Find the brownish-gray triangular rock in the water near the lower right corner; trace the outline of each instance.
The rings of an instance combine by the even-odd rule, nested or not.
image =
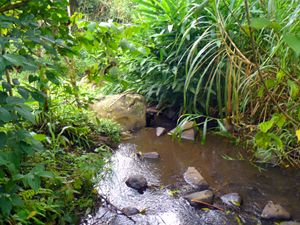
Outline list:
[[[265,205],[260,216],[263,219],[275,220],[288,220],[291,218],[291,215],[281,205],[274,204],[272,201]]]

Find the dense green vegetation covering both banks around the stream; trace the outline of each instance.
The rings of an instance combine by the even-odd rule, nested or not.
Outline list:
[[[297,0],[121,3],[71,1],[68,15],[66,0],[1,1],[1,223],[91,212],[120,138],[85,110],[99,92],[141,93],[203,125],[204,138],[208,122],[226,121],[251,134],[254,155],[300,166]],[[81,89],[84,75],[106,84]]]

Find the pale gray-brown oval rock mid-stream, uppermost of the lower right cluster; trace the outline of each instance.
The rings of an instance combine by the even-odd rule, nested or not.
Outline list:
[[[201,176],[201,174],[195,169],[195,167],[189,167],[184,173],[184,179],[196,190],[205,190],[208,188],[206,180]]]

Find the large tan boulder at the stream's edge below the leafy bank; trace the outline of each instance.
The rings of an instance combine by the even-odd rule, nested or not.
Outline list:
[[[146,126],[146,99],[139,94],[101,95],[90,105],[101,118],[114,119],[124,131]]]

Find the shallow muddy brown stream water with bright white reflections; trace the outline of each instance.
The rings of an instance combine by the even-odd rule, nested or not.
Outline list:
[[[140,160],[132,155],[152,151],[158,152],[160,159]],[[243,151],[216,135],[208,136],[202,146],[200,141],[179,143],[169,135],[156,137],[153,128],[143,129],[119,146],[112,158],[112,176],[99,184],[99,192],[118,208],[145,209],[145,214],[132,216],[136,224],[239,224],[233,214],[193,208],[180,196],[168,193],[185,184],[183,174],[189,166],[194,166],[213,190],[215,205],[222,207],[219,197],[227,193],[238,192],[243,197],[242,210],[237,214],[241,224],[273,224],[259,220],[269,200],[282,205],[294,220],[300,221],[300,171],[280,168],[259,171],[249,162],[222,157],[237,158],[239,153],[245,155]],[[125,185],[125,180],[133,174],[143,175],[151,186],[144,194]],[[101,207],[88,223],[134,224],[106,207]]]

